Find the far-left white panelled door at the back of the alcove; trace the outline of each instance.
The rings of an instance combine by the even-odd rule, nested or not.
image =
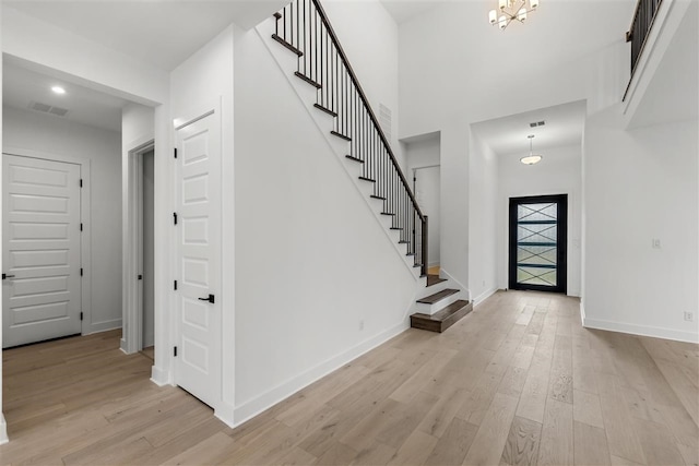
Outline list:
[[[80,165],[2,156],[2,346],[81,333]]]

